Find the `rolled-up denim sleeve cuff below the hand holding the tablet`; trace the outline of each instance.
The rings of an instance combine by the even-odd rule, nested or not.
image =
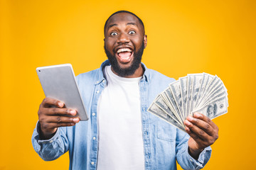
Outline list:
[[[68,138],[65,135],[65,128],[58,128],[55,135],[49,140],[40,140],[39,126],[40,123],[36,123],[36,128],[32,135],[32,144],[35,151],[43,160],[55,160],[68,151]]]

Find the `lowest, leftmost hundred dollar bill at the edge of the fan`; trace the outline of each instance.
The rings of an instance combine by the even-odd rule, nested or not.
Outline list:
[[[176,122],[176,120],[171,118],[170,115],[168,115],[164,111],[162,111],[161,108],[159,108],[156,105],[156,103],[152,103],[151,106],[149,107],[148,111],[150,113],[153,113],[154,115],[158,116],[159,118],[164,119],[167,123],[171,123],[171,125],[174,125],[176,128],[185,131],[184,125],[181,125],[180,123]]]

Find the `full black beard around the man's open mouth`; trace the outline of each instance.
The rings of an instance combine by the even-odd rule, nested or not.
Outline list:
[[[106,49],[106,45],[104,45],[104,49],[114,72],[116,72],[119,75],[119,77],[127,77],[134,74],[135,71],[139,68],[139,64],[141,64],[142,62],[142,55],[144,52],[144,41],[142,41],[142,46],[139,48],[138,52],[135,52],[136,49],[134,49],[134,60],[132,61],[131,66],[127,68],[122,68],[119,66],[117,58],[114,55],[112,55],[109,50]],[[113,53],[115,52],[113,51]]]

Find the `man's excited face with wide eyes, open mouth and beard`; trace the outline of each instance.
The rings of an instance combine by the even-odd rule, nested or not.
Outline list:
[[[105,52],[112,70],[127,77],[141,66],[146,35],[139,20],[129,13],[117,13],[107,22]]]

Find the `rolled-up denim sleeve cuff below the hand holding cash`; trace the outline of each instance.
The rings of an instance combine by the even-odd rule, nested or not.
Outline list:
[[[176,159],[183,169],[202,169],[210,159],[211,148],[206,147],[198,159],[193,159],[188,153],[189,135],[186,132],[177,130],[176,136]]]

